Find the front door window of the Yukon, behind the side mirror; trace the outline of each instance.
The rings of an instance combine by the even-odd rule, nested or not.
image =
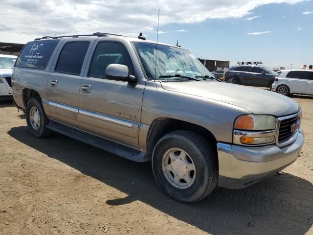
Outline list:
[[[126,65],[131,75],[134,67],[126,47],[118,42],[99,42],[91,59],[89,76],[106,78],[105,71],[110,64]]]

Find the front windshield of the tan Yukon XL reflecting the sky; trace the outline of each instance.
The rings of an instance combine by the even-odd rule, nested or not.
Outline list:
[[[192,78],[204,76],[214,77],[213,74],[187,50],[178,47],[157,45],[156,56],[156,44],[138,42],[133,42],[132,44],[139,55],[148,79],[161,79],[162,77],[175,79],[175,75],[177,74]]]

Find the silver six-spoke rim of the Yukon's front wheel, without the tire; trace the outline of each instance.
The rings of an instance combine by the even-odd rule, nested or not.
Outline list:
[[[166,180],[175,188],[189,188],[196,178],[192,158],[180,148],[171,148],[164,153],[162,170]]]

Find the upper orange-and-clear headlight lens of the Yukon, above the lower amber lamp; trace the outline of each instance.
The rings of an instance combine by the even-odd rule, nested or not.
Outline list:
[[[273,130],[275,117],[271,115],[244,115],[236,119],[234,128],[238,130]]]

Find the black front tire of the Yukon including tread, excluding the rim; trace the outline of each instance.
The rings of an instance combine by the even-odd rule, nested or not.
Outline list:
[[[188,188],[177,188],[165,177],[162,170],[163,155],[172,148],[185,151],[195,165],[195,178]],[[180,202],[197,202],[209,195],[218,185],[218,161],[216,150],[197,133],[174,131],[157,141],[153,151],[152,168],[159,187]]]

